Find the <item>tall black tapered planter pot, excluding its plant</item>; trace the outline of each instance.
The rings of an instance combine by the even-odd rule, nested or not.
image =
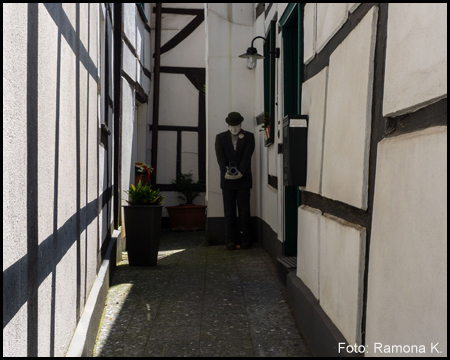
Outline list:
[[[161,238],[161,205],[123,207],[130,266],[152,266],[158,260]]]

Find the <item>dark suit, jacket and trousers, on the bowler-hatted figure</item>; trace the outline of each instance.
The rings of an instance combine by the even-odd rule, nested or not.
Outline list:
[[[255,136],[248,131],[241,130],[241,133],[244,134],[244,137],[242,139],[238,138],[236,150],[233,147],[230,131],[218,134],[215,143],[217,162],[220,167],[220,187],[223,194],[226,241],[232,241],[236,244],[251,242],[251,158],[255,150]],[[227,172],[226,166],[229,166],[230,162],[236,162],[238,170],[242,174],[240,179],[225,179],[225,173]],[[239,211],[240,231],[236,217],[236,203]]]

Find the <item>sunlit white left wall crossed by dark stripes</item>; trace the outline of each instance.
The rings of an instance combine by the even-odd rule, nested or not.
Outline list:
[[[64,4],[62,8],[61,4],[38,5],[38,12],[34,14],[39,20],[37,59],[29,56],[31,61],[37,61],[36,69],[27,69],[27,6],[9,4],[3,8],[4,37],[6,37],[3,58],[4,85],[7,86],[14,79],[10,83],[11,91],[4,93],[3,97],[3,140],[7,148],[7,151],[4,151],[6,184],[4,213],[8,214],[4,218],[4,231],[7,237],[3,248],[3,266],[4,271],[10,266],[16,269],[14,271],[15,275],[18,275],[17,291],[27,286],[26,276],[22,278],[20,269],[21,264],[26,265],[27,195],[26,191],[17,192],[18,187],[27,190],[27,71],[36,71],[38,76],[36,155],[39,269],[35,271],[39,273],[37,290],[39,356],[49,356],[52,350],[55,356],[63,356],[75,330],[77,235],[81,239],[80,312],[84,309],[84,301],[96,276],[98,235],[96,211],[92,214],[89,203],[94,202],[97,197],[97,79],[91,74],[94,71],[93,67],[97,66],[97,7],[88,4],[78,6],[80,31],[76,34],[77,5]],[[90,23],[87,21],[88,18]],[[77,78],[75,49],[78,36],[80,53]],[[93,66],[88,69],[86,64]],[[76,120],[79,120],[78,139]],[[77,141],[80,147],[78,174]],[[19,173],[16,174],[17,170]],[[76,232],[77,176],[80,234]],[[12,197],[12,194],[17,198]],[[96,210],[95,202],[93,206]],[[19,212],[17,207],[20,208]],[[56,236],[55,230],[58,235],[58,248],[54,248],[52,243]],[[86,253],[87,256],[84,255]],[[53,282],[54,299],[52,299]],[[18,302],[20,299],[18,295],[16,294],[17,298],[10,297],[9,301]],[[9,297],[7,292],[4,292],[4,296]],[[54,309],[52,302],[55,305]],[[27,304],[23,304],[4,327],[3,354],[6,356],[27,355],[26,307]],[[50,339],[52,324],[55,336],[54,349],[51,349],[53,340]]]

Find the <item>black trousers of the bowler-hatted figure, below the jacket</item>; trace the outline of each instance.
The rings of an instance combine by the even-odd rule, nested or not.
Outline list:
[[[226,241],[251,242],[250,189],[222,189]],[[236,216],[236,204],[239,219]]]

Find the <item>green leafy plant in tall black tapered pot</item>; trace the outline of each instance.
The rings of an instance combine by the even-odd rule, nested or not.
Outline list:
[[[158,260],[164,196],[148,184],[131,184],[125,191],[130,200],[124,205],[125,232],[130,266],[152,266]]]

